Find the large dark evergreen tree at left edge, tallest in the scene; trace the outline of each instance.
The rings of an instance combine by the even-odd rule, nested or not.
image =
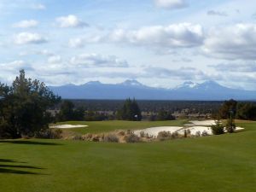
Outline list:
[[[47,109],[61,101],[44,83],[26,79],[20,70],[12,86],[0,85],[0,137],[32,137],[48,129]]]

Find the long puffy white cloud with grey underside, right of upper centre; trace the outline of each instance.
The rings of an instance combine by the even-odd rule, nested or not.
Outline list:
[[[146,26],[136,31],[115,30],[110,41],[167,48],[195,47],[202,44],[204,32],[200,25],[190,23],[170,26]]]

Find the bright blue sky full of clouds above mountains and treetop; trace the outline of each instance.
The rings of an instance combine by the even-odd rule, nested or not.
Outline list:
[[[256,90],[256,1],[0,0],[0,82]]]

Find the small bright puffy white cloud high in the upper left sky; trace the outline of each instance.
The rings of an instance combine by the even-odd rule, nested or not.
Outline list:
[[[56,18],[56,22],[58,26],[60,26],[61,28],[88,26],[87,23],[85,23],[82,20],[79,20],[79,18],[75,15],[58,17]]]

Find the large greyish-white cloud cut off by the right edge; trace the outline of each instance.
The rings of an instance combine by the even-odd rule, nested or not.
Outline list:
[[[203,46],[205,54],[227,60],[256,59],[256,24],[212,29]]]

